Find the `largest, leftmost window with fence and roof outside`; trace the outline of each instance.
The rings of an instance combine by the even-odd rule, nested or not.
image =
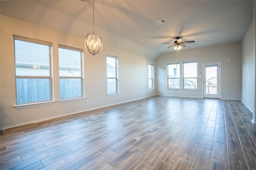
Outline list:
[[[16,104],[52,100],[52,43],[14,35]]]

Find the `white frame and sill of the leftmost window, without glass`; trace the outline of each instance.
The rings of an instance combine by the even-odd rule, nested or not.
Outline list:
[[[54,96],[53,96],[53,81],[52,81],[52,43],[48,41],[42,41],[38,39],[33,39],[29,37],[23,37],[20,35],[13,35],[14,39],[14,73],[15,73],[15,95],[16,95],[16,105],[14,106],[15,108],[22,108],[22,107],[30,107],[30,106],[38,106],[42,104],[52,104],[54,103]],[[28,43],[36,43],[39,45],[46,45],[48,46],[49,49],[49,75],[46,76],[28,76],[28,75],[17,75],[16,74],[16,46],[15,46],[15,41],[25,41]],[[42,100],[42,101],[35,101],[35,102],[24,102],[24,103],[19,103],[18,102],[18,89],[17,89],[17,79],[23,78],[23,79],[28,79],[28,78],[38,78],[38,79],[49,79],[49,86],[50,86],[50,100]]]

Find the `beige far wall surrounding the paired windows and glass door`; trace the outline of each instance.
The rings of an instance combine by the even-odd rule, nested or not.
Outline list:
[[[230,59],[230,61],[228,61]],[[156,94],[166,96],[203,97],[202,64],[221,62],[221,98],[241,99],[241,43],[206,47],[201,49],[180,50],[179,62],[198,61],[198,90],[167,89],[167,63],[177,62],[177,53],[163,54],[156,59],[157,91]]]

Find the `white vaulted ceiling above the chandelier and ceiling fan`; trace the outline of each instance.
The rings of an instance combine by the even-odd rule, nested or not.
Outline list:
[[[86,37],[92,32],[92,0],[6,0],[0,7],[2,15],[64,33]],[[118,39],[123,37],[138,50],[150,49],[150,57],[156,58],[174,51],[163,43],[173,43],[177,36],[195,41],[182,50],[241,42],[253,20],[253,1],[95,0],[94,17],[103,44],[136,50]],[[162,19],[166,23],[155,23]]]

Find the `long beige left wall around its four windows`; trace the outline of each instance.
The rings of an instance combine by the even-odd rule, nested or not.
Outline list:
[[[24,125],[62,115],[110,106],[122,102],[154,96],[155,90],[148,90],[148,63],[155,60],[116,47],[103,45],[98,56],[89,55],[84,39],[64,34],[31,23],[1,16],[1,86],[0,115],[1,129]],[[13,34],[52,42],[54,104],[15,109],[15,74]],[[60,99],[58,79],[58,44],[84,49],[84,89],[86,99],[72,102],[58,102]],[[146,53],[146,52],[145,52]],[[106,55],[118,57],[119,95],[106,96]],[[126,96],[126,94],[128,96]]]

